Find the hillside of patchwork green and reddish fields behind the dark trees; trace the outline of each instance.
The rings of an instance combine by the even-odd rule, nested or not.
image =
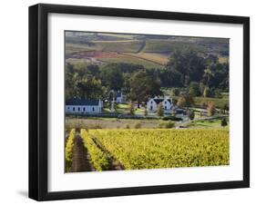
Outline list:
[[[229,39],[66,32],[66,59],[73,64],[135,63],[162,68],[176,50],[192,50],[201,56],[215,54],[225,63],[229,60]]]

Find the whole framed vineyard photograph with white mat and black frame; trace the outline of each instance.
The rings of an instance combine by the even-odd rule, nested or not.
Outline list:
[[[250,186],[250,19],[29,7],[29,197]]]

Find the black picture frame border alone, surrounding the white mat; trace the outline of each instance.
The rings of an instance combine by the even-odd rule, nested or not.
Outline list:
[[[47,190],[47,16],[50,13],[166,19],[243,25],[243,180],[101,190]],[[67,200],[250,187],[250,18],[76,5],[29,7],[29,198]]]

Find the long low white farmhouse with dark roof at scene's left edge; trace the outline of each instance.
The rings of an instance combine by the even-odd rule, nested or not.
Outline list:
[[[66,113],[101,113],[102,107],[101,100],[73,98],[66,102]]]

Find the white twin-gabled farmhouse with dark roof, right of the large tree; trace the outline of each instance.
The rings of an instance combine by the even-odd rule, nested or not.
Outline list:
[[[165,112],[170,112],[172,110],[172,99],[168,96],[165,96],[164,98],[150,98],[147,102],[148,111],[157,112],[160,102],[162,103]]]

